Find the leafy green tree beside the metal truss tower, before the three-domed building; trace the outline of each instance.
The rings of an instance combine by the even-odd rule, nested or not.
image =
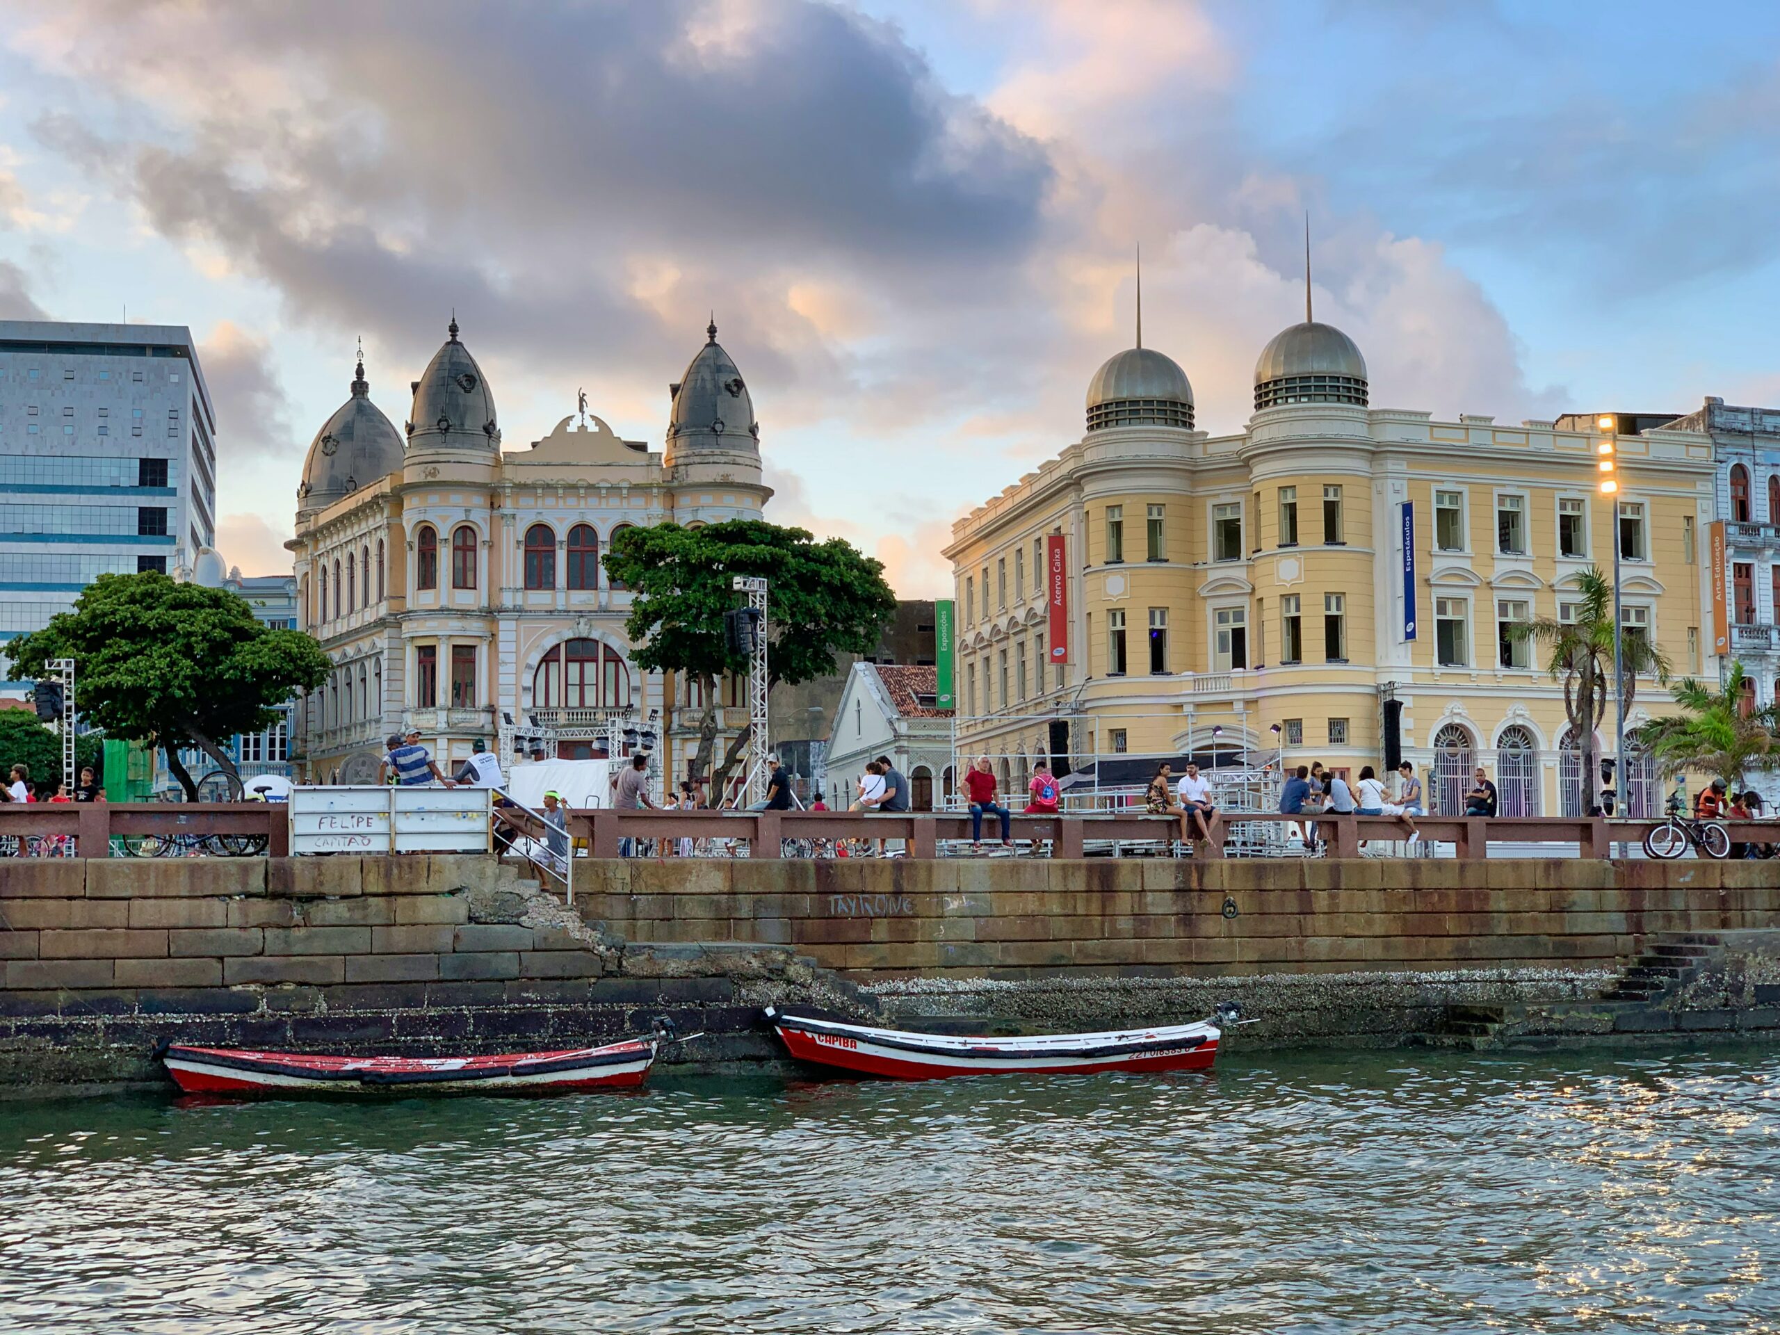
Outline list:
[[[735,575],[767,580],[771,682],[808,682],[835,669],[835,653],[870,653],[895,616],[883,562],[838,538],[819,543],[805,529],[760,520],[623,529],[612,538],[605,570],[634,591],[625,632],[641,646],[632,655],[637,666],[684,673],[703,685],[694,774],[707,773],[717,739],[717,680],[748,675],[748,660],[732,655],[723,639],[723,614],[739,603],[730,587]],[[744,726],[730,744],[712,776],[712,797],[749,735]]]

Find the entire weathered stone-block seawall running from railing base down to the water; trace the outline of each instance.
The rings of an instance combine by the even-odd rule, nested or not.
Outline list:
[[[767,1002],[1056,1032],[1234,997],[1260,1016],[1234,1047],[1780,1029],[1768,947],[1736,1002],[1600,1002],[1659,934],[1723,951],[1780,926],[1776,879],[1711,862],[589,860],[571,911],[490,858],[18,860],[0,865],[0,1088],[162,1082],[160,1041],[495,1052],[657,1015],[707,1032],[668,1063],[771,1061]]]

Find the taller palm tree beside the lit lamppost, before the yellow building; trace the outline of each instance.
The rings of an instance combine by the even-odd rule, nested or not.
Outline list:
[[[1543,644],[1549,655],[1545,669],[1552,680],[1563,682],[1563,710],[1570,721],[1570,737],[1582,753],[1579,810],[1588,813],[1598,805],[1600,796],[1600,748],[1595,746],[1595,728],[1607,717],[1607,692],[1613,682],[1613,584],[1600,566],[1590,566],[1575,577],[1575,587],[1581,596],[1574,619],[1536,616],[1511,627],[1508,634]],[[1659,682],[1668,682],[1670,660],[1645,635],[1622,634],[1620,651],[1625,659],[1625,698],[1620,703],[1629,714],[1632,694],[1638,691],[1638,675],[1654,675]],[[1627,789],[1623,771],[1622,756],[1620,792]]]

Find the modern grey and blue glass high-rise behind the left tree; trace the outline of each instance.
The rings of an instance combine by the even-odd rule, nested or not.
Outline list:
[[[215,413],[192,331],[0,320],[0,639],[94,577],[215,541]]]

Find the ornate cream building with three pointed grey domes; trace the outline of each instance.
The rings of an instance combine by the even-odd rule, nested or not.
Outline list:
[[[384,737],[420,728],[443,764],[479,740],[543,733],[566,758],[603,755],[625,723],[657,716],[657,780],[685,774],[705,700],[696,682],[644,673],[625,634],[630,593],[603,552],[627,525],[762,518],[760,425],[712,324],[669,386],[662,450],[619,440],[586,411],[530,449],[502,450],[495,397],[449,338],[413,383],[397,431],[351,397],[310,445],[297,490],[299,628],[335,669],[297,705],[294,760],[312,781],[365,783]],[[719,742],[748,721],[719,685]],[[504,749],[506,749],[504,748]]]

